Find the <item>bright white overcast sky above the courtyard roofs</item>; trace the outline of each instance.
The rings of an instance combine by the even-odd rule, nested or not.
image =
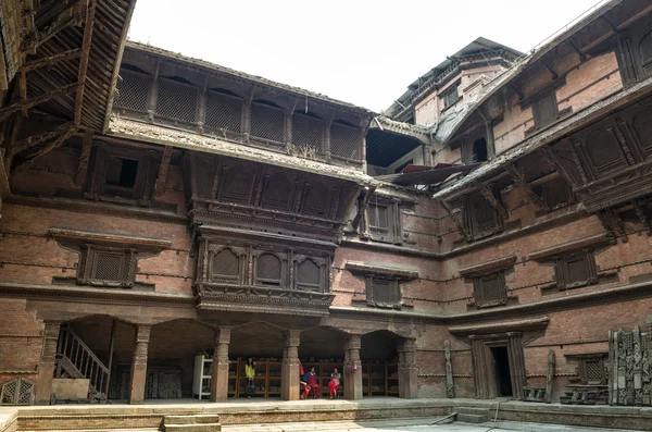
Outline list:
[[[598,0],[138,0],[129,38],[375,111],[479,36],[528,51]]]

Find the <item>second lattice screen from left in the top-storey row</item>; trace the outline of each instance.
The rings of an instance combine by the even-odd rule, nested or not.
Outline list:
[[[164,118],[195,123],[199,89],[189,84],[165,78],[160,78],[158,84],[155,113]]]

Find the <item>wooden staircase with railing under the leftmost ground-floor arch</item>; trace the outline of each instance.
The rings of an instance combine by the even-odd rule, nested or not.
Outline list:
[[[57,346],[57,378],[62,374],[76,379],[88,379],[90,397],[106,395],[109,368],[90,350],[82,338],[70,326],[62,326]]]

